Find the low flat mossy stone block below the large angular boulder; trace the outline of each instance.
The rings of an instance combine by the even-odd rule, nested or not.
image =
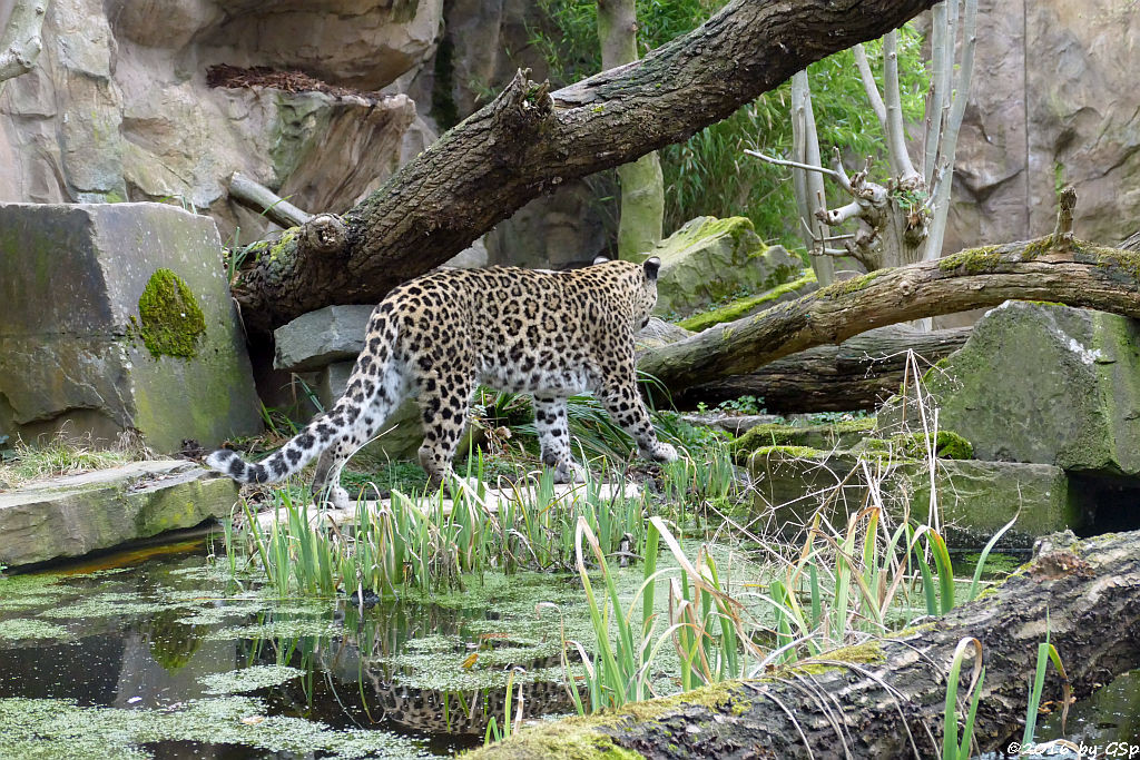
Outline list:
[[[868,473],[879,480],[876,491],[895,520],[907,512],[914,520],[927,517],[926,461],[771,446],[756,450],[748,463],[754,509],[764,516],[759,524],[767,521],[792,540],[803,540],[804,526],[821,506],[832,525],[845,525],[848,515],[868,504]],[[1088,529],[1096,517],[1094,505],[1052,465],[938,459],[934,489],[943,534],[953,548],[980,549],[1015,515],[1017,522],[997,546],[1027,549],[1041,536]]]

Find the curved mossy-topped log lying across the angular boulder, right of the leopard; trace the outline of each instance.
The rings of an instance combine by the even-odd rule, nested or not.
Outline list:
[[[657,349],[638,369],[666,387],[711,383],[873,327],[1010,299],[1140,317],[1140,255],[1049,236],[880,269]]]

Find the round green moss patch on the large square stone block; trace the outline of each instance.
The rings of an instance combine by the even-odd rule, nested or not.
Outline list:
[[[139,296],[138,334],[150,354],[193,357],[205,332],[205,317],[186,280],[169,269],[155,270]]]

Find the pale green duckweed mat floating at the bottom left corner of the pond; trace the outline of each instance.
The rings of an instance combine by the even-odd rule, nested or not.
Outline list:
[[[83,708],[72,700],[0,700],[0,757],[135,760],[150,757],[138,745],[168,741],[335,758],[423,754],[413,742],[382,732],[333,730],[301,718],[266,717],[264,703],[250,697],[195,700],[156,710]]]

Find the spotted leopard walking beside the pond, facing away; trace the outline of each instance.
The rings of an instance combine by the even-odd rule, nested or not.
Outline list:
[[[445,268],[410,279],[373,310],[344,393],[328,410],[258,464],[231,449],[206,464],[238,483],[272,483],[317,458],[315,498],[347,508],[344,463],[413,395],[424,432],[420,465],[439,485],[453,472],[480,384],[532,397],[540,457],[556,483],[586,475],[572,456],[567,400],[587,392],[643,458],[674,461],[677,450],[657,438],[635,365],[635,336],[657,304],[660,268],[657,256],[598,258],[563,271]]]

